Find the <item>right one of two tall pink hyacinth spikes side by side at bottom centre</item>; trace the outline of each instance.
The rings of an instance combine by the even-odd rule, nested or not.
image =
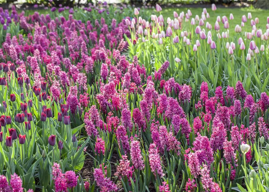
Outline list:
[[[155,177],[157,176],[156,172],[159,176],[164,176],[161,166],[161,157],[155,143],[151,143],[149,146],[149,166]]]

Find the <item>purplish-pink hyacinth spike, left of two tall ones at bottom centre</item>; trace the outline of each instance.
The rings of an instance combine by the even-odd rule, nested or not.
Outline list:
[[[131,160],[132,160],[132,163],[133,163],[133,167],[135,169],[140,169],[140,170],[144,169],[145,165],[144,165],[143,157],[141,155],[141,149],[140,149],[139,141],[133,140],[131,142],[130,155],[131,155]]]

